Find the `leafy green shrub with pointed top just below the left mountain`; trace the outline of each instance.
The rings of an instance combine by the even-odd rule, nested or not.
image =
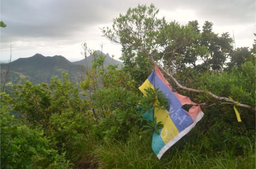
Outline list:
[[[24,115],[30,123],[47,127],[49,117],[54,113],[61,113],[67,109],[84,112],[87,101],[79,97],[79,89],[69,81],[67,73],[62,73],[62,80],[52,77],[50,86],[47,83],[15,86],[14,109]]]

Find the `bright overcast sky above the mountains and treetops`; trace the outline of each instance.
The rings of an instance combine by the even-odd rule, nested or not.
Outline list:
[[[150,4],[160,9],[158,17],[181,24],[189,20],[214,24],[214,31],[235,35],[236,47],[252,47],[255,31],[255,0],[1,0],[1,61],[30,57],[62,55],[70,61],[81,60],[80,46],[86,42],[91,49],[114,54],[118,59],[120,46],[102,37],[99,28],[110,26],[111,20],[125,14],[129,7]]]

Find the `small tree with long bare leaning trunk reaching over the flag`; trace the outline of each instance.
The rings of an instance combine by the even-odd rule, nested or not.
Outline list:
[[[122,45],[123,57],[126,63],[133,63],[128,68],[133,71],[137,67],[134,62],[138,54],[144,54],[154,65],[157,65],[174,83],[181,89],[190,92],[205,93],[217,100],[239,104],[238,101],[227,97],[219,97],[207,90],[191,89],[182,86],[173,77],[173,74],[186,68],[186,53],[193,42],[201,40],[204,46],[201,55],[205,55],[206,66],[210,69],[221,70],[228,54],[232,50],[232,38],[224,33],[221,37],[212,32],[212,23],[206,22],[203,33],[198,34],[196,23],[182,26],[178,23],[167,23],[165,18],[156,17],[159,10],[151,4],[149,7],[138,5],[136,8],[129,8],[126,14],[120,14],[113,19],[111,28],[103,28],[102,33],[114,43]],[[204,42],[204,43],[203,43]],[[204,58],[204,57],[203,57]],[[197,61],[197,57],[194,58]],[[144,63],[143,63],[144,64]],[[150,64],[149,64],[150,65]],[[129,65],[127,65],[129,66]],[[239,106],[255,110],[253,106],[239,104]]]

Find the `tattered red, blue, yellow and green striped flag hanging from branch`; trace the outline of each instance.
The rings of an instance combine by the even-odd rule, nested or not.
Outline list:
[[[145,95],[144,89],[148,89],[149,87],[152,89],[158,88],[169,99],[169,109],[154,109],[154,117],[156,117],[157,123],[161,121],[163,124],[160,135],[154,132],[152,138],[152,149],[157,155],[157,158],[160,159],[163,153],[180,140],[181,137],[186,135],[201,120],[204,113],[201,111],[200,106],[193,103],[189,97],[172,92],[172,86],[163,77],[157,66],[139,89]],[[182,106],[185,104],[193,105],[189,109],[189,112],[182,109]]]

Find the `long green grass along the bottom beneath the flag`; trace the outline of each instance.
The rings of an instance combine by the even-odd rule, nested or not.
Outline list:
[[[221,152],[192,151],[172,147],[158,160],[151,150],[151,138],[131,134],[126,143],[97,142],[87,137],[80,152],[80,166],[99,169],[255,169],[255,151],[250,146],[243,155],[234,150]]]

